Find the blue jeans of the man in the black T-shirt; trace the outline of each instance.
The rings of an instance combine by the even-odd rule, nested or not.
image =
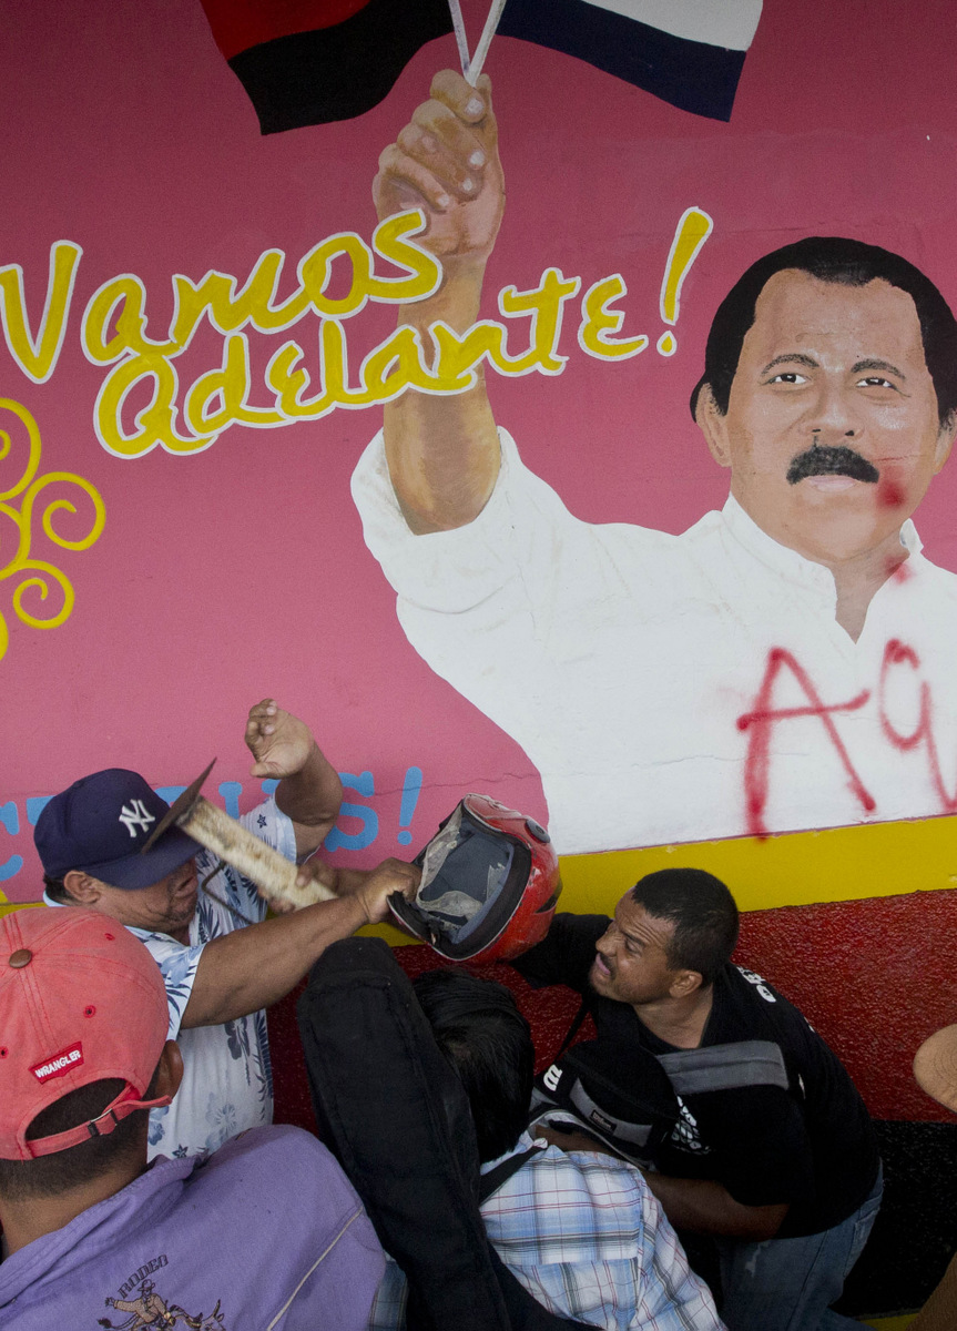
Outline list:
[[[833,1312],[851,1267],[861,1255],[884,1191],[877,1171],[870,1197],[823,1234],[735,1243],[719,1239],[728,1331],[839,1331],[859,1322]]]

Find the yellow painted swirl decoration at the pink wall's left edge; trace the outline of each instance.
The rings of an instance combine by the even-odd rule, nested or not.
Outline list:
[[[4,538],[9,531],[16,534],[16,550],[12,558],[7,559],[5,563],[0,563],[0,582],[5,582],[7,579],[13,580],[11,604],[13,614],[23,624],[27,624],[29,628],[59,628],[60,624],[69,619],[76,595],[72,583],[60,568],[45,559],[31,558],[36,500],[47,486],[52,484],[76,486],[88,496],[93,508],[93,522],[87,535],[79,539],[71,539],[56,530],[59,514],[64,510],[67,512],[77,512],[75,503],[61,496],[49,499],[45,507],[44,500],[41,500],[37,507],[44,535],[55,546],[60,546],[61,550],[89,550],[102,531],[106,520],[106,510],[98,491],[89,480],[84,480],[83,476],[76,476],[72,471],[48,471],[45,475],[37,475],[41,445],[36,421],[27,407],[19,402],[13,402],[12,398],[0,398],[0,411],[12,411],[25,427],[29,441],[29,457],[23,475],[9,490],[0,490],[0,516],[8,518],[9,523],[12,523],[12,527],[8,523],[0,523],[0,559],[5,558],[3,548],[5,543]],[[0,427],[0,463],[9,457],[12,446],[9,431]],[[33,592],[33,596],[39,594],[40,602],[45,602],[51,592],[53,592],[51,612],[43,615],[31,614],[23,603],[24,595],[28,592]],[[8,646],[9,631],[7,620],[0,611],[0,659],[7,654]]]

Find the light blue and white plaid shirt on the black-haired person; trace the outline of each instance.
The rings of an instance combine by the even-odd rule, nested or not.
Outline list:
[[[530,1146],[523,1134],[507,1155]],[[607,1331],[723,1331],[707,1286],[624,1161],[550,1146],[484,1202],[482,1218],[502,1260],[551,1312]],[[405,1275],[390,1260],[370,1331],[402,1327],[405,1303]]]

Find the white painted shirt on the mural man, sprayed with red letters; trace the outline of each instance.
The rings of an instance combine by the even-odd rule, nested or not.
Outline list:
[[[833,576],[728,499],[681,535],[574,518],[499,431],[466,527],[353,476],[413,647],[542,775],[563,853],[957,809],[957,576],[910,551],[855,643]]]

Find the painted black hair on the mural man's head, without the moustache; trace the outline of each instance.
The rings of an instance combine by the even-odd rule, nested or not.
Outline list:
[[[957,319],[929,277],[900,254],[865,245],[844,236],[808,236],[793,245],[772,250],[735,282],[721,303],[708,333],[704,350],[704,374],[691,394],[691,414],[708,385],[715,406],[725,415],[731,383],[737,373],[741,346],[755,322],[757,297],[775,273],[797,269],[821,282],[844,286],[866,286],[881,280],[906,291],[917,309],[924,343],[924,359],[937,394],[937,418],[941,427],[957,413]]]

